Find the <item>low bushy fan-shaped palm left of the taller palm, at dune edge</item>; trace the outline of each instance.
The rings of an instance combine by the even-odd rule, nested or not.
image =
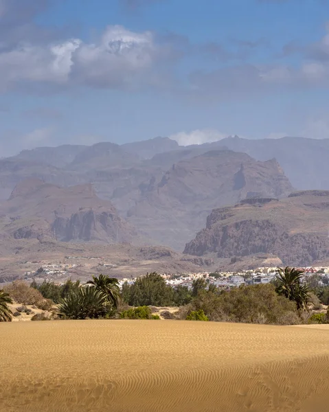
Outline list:
[[[78,293],[71,292],[58,305],[59,316],[68,319],[97,319],[104,317],[106,312],[106,296],[89,286],[80,288]]]

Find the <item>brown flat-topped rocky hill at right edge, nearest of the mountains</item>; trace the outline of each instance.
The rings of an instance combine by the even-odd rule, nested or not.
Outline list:
[[[252,199],[215,209],[206,228],[186,244],[184,253],[218,258],[272,253],[284,264],[305,265],[329,256],[326,233],[329,193],[293,194],[281,201]]]

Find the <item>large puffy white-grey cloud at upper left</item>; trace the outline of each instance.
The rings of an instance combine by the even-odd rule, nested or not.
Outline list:
[[[98,43],[73,38],[61,43],[21,43],[0,53],[0,89],[21,82],[82,83],[102,87],[129,86],[161,58],[150,32],[109,26]]]

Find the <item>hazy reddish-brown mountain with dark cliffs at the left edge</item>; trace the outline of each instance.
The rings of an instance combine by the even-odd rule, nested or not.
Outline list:
[[[0,230],[15,239],[49,236],[59,241],[132,242],[137,231],[91,185],[58,187],[29,179],[1,205]]]

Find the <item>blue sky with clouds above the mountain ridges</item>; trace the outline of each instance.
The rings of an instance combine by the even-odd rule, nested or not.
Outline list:
[[[329,137],[326,0],[0,0],[1,155]]]

